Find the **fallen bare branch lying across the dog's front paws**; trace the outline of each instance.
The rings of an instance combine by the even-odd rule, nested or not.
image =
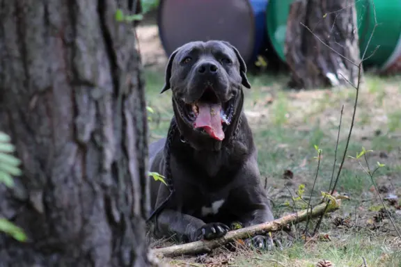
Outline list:
[[[330,201],[331,203],[327,207],[326,212],[336,211],[340,207],[340,199],[332,199]],[[253,225],[251,227],[245,227],[242,229],[230,231],[226,234],[226,236],[211,241],[201,240],[182,245],[172,245],[166,248],[157,248],[153,250],[153,252],[164,257],[177,257],[184,254],[210,252],[214,248],[219,248],[221,245],[236,241],[237,239],[249,238],[258,234],[267,234],[268,232],[277,232],[283,229],[283,227],[285,227],[286,225],[301,223],[305,221],[308,217],[315,218],[317,216],[320,216],[324,213],[324,209],[326,209],[326,204],[327,202],[319,204],[314,207],[312,211],[303,210],[297,213],[292,213],[288,216],[278,218],[276,220],[272,220],[268,223],[261,223],[260,225]]]

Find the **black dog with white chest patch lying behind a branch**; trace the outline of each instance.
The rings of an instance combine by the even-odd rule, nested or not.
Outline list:
[[[175,191],[152,220],[155,236],[210,240],[224,236],[232,223],[247,227],[274,219],[242,108],[242,86],[251,88],[246,65],[228,42],[189,42],[168,59],[162,92],[171,89],[177,131],[150,144],[149,167],[166,175],[168,147]],[[151,191],[154,209],[170,194],[154,179]],[[269,236],[248,241],[258,248],[273,244]]]

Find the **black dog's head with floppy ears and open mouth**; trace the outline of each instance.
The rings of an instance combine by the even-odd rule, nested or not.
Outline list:
[[[179,124],[195,131],[196,136],[221,141],[241,112],[242,86],[251,88],[238,50],[225,41],[198,41],[171,54],[162,92],[171,88]]]

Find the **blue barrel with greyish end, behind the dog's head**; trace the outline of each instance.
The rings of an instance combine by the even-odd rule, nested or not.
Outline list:
[[[182,44],[225,40],[252,64],[267,44],[268,0],[160,0],[157,16],[164,51]]]

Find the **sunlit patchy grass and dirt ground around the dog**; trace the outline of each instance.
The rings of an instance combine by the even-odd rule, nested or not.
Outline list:
[[[142,25],[137,30],[146,74],[146,97],[150,113],[150,140],[166,135],[171,119],[171,92],[159,94],[164,83],[166,56],[157,27]],[[294,91],[285,87],[287,74],[249,74],[251,90],[246,90],[245,112],[258,147],[258,161],[266,190],[274,204],[276,218],[294,209],[292,196],[304,184],[304,198],[309,199],[317,172],[317,151],[322,149],[317,182],[311,203],[317,204],[321,191],[328,191],[333,172],[340,111],[343,118],[338,143],[336,176],[343,159],[352,120],[356,90]],[[379,168],[373,177],[379,193],[398,231],[401,231],[401,76],[379,77],[366,74],[361,85],[354,129],[347,156],[356,156],[363,147],[367,161],[363,168]],[[342,207],[326,216],[320,227],[320,238],[307,242],[299,238],[305,224],[290,237],[280,234],[284,249],[258,252],[237,248],[234,252],[219,249],[210,255],[164,259],[173,266],[315,266],[326,259],[333,266],[401,266],[401,239],[391,221],[380,211],[372,179],[356,159],[346,157],[337,185],[340,194],[349,196]],[[288,207],[290,204],[290,207]],[[346,223],[336,226],[339,218]],[[314,220],[311,225],[315,225]],[[338,224],[338,223],[337,223]],[[167,243],[155,243],[166,245]]]

